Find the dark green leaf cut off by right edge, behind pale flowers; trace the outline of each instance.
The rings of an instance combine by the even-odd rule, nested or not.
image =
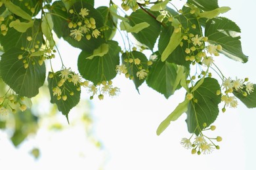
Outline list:
[[[244,96],[241,92],[233,91],[233,94],[240,99],[244,103],[244,105],[248,108],[255,108],[256,107],[256,84],[253,84],[253,92]]]

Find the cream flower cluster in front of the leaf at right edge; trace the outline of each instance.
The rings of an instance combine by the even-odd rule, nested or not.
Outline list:
[[[246,84],[245,84],[246,82]],[[230,77],[225,78],[223,81],[223,90],[224,94],[221,96],[221,101],[224,102],[223,112],[225,112],[225,107],[232,107],[236,108],[238,105],[238,101],[234,95],[230,96],[230,93],[232,93],[234,90],[236,92],[242,93],[244,96],[249,95],[253,92],[254,87],[253,83],[248,82],[248,78],[245,78],[244,80],[236,78],[236,80],[232,80]],[[217,92],[217,95],[220,95],[221,91]]]

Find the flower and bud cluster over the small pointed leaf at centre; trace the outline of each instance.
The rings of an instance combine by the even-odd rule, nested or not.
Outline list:
[[[145,69],[144,66],[142,65],[141,61],[139,58],[125,58],[124,59],[125,63],[122,63],[121,65],[116,65],[116,72],[119,73],[119,75],[121,75],[121,73],[125,74],[126,78],[130,78],[131,80],[133,80],[133,75],[130,75],[128,73],[128,69],[127,68],[132,68],[133,65],[135,65],[137,67],[137,69],[139,71],[137,71],[136,76],[142,80],[144,78],[146,78],[146,76],[148,75],[148,69]],[[152,61],[149,60],[147,61],[147,65],[152,65]]]

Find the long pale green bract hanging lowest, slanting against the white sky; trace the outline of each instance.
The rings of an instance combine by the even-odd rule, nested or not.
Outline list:
[[[161,122],[156,130],[157,135],[161,135],[161,133],[171,124],[171,121],[177,120],[184,112],[186,112],[186,110],[188,110],[188,102],[188,99],[185,99],[182,103],[179,103],[175,110]]]

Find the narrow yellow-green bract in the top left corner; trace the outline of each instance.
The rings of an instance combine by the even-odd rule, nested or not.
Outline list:
[[[5,7],[7,7],[7,9],[12,13],[24,18],[25,20],[32,20],[32,16],[30,16],[30,14],[22,10],[20,7],[14,5],[11,1],[4,1],[4,3]]]

